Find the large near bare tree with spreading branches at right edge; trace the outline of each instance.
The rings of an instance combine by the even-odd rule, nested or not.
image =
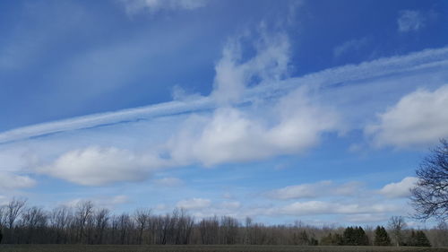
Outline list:
[[[420,163],[416,170],[418,183],[410,197],[417,211],[416,218],[427,220],[435,217],[448,219],[448,143],[440,145]]]

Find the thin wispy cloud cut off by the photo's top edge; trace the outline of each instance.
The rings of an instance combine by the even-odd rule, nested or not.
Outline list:
[[[207,4],[206,0],[121,0],[128,14],[143,11],[156,13],[163,10],[194,10]]]

